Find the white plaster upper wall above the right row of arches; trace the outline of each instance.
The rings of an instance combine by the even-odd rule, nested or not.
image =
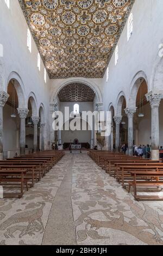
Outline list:
[[[109,80],[103,77],[104,109],[112,102],[116,106],[118,94],[123,91],[127,105],[131,81],[139,71],[145,72],[148,91],[152,89],[152,74],[158,59],[158,47],[163,42],[163,1],[135,0],[133,8],[133,34],[127,41],[127,24],[118,41],[118,63],[115,66],[115,52],[109,63]],[[161,58],[160,58],[161,59]],[[162,87],[163,88],[163,87]]]

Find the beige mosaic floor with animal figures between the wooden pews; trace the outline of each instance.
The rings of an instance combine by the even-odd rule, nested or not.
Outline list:
[[[0,245],[163,245],[163,202],[135,202],[85,153],[0,199]]]

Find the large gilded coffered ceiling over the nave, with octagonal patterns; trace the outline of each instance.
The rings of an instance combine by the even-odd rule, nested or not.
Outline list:
[[[18,0],[49,78],[103,77],[135,0]]]

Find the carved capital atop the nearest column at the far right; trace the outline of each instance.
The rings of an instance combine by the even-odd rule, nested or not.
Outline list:
[[[151,107],[159,107],[160,101],[163,97],[163,92],[152,91],[146,94],[147,101],[150,102]]]

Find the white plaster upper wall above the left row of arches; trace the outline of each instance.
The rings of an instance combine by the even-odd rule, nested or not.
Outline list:
[[[49,78],[44,81],[44,65],[41,60],[41,71],[37,68],[37,47],[32,38],[32,53],[27,48],[28,25],[17,0],[10,1],[8,9],[4,0],[0,0],[0,44],[3,45],[3,57],[0,57],[0,89],[7,92],[8,78],[11,72],[20,77],[27,107],[28,96],[33,92],[36,97],[37,113],[40,104],[45,107],[45,121],[49,122]],[[12,77],[10,77],[12,78]],[[49,140],[49,127],[46,127],[46,142]]]

